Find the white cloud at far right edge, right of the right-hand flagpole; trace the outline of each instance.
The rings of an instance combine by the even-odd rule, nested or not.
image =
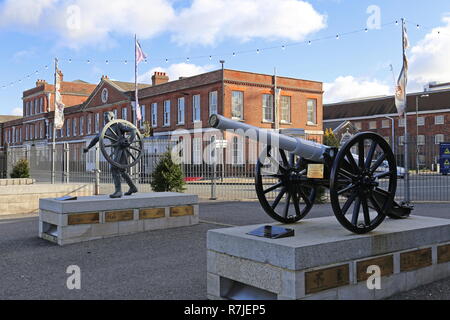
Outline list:
[[[411,48],[409,87],[421,87],[430,81],[450,81],[450,15],[443,27],[434,28]],[[438,31],[441,34],[438,34]]]

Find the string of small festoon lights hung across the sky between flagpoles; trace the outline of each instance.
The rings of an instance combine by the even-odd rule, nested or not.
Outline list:
[[[225,53],[216,53],[216,54],[208,54],[208,55],[198,55],[198,56],[192,56],[192,57],[186,57],[186,56],[178,56],[178,57],[166,57],[166,58],[156,58],[156,59],[152,59],[152,63],[169,63],[169,62],[175,62],[175,61],[186,61],[186,62],[190,62],[192,60],[201,60],[201,59],[209,59],[212,60],[213,58],[225,58],[225,57],[236,57],[238,55],[244,55],[244,54],[261,54],[263,52],[266,51],[271,51],[271,50],[286,50],[288,48],[291,47],[297,47],[297,46],[301,46],[301,45],[307,45],[307,46],[311,46],[314,43],[317,42],[322,42],[322,41],[326,41],[326,40],[332,40],[332,39],[336,39],[336,40],[340,40],[342,37],[347,37],[353,34],[357,34],[357,33],[369,33],[372,30],[379,30],[379,29],[383,29],[384,27],[388,27],[388,26],[398,26],[400,24],[399,20],[395,20],[395,21],[391,21],[388,23],[384,23],[382,25],[380,25],[380,28],[377,29],[369,29],[367,27],[365,28],[359,28],[359,29],[355,29],[352,31],[347,31],[347,32],[342,32],[342,33],[336,33],[336,34],[332,34],[332,35],[328,35],[328,36],[324,36],[324,37],[319,37],[319,38],[312,38],[312,39],[308,39],[308,40],[304,40],[304,41],[299,41],[299,42],[291,42],[291,43],[283,43],[283,44],[279,44],[279,45],[275,45],[275,46],[270,46],[270,47],[261,47],[261,48],[253,48],[253,49],[248,49],[248,50],[235,50],[235,51],[229,51],[229,52],[225,52]],[[413,22],[413,21],[408,21],[407,20],[407,24],[409,25],[414,25],[417,29],[419,28],[424,28],[424,29],[430,29],[430,30],[437,30],[437,34],[439,35],[445,35],[445,33],[441,32],[439,30],[439,28],[431,28],[431,27],[426,27],[423,26],[417,22]],[[86,63],[86,64],[114,64],[114,63],[120,63],[120,64],[128,64],[128,63],[134,63],[134,58],[127,58],[127,59],[72,59],[72,58],[63,58],[63,59],[58,59],[59,62],[62,63]],[[148,59],[144,60],[144,63],[149,63]],[[51,64],[46,64],[44,66],[42,66],[41,68],[37,68],[34,72],[20,78],[17,79],[15,81],[9,82],[9,83],[5,83],[3,85],[0,86],[1,89],[6,89],[9,87],[13,87],[14,85],[20,84],[22,82],[24,82],[27,79],[30,79],[32,76],[37,76],[42,72],[45,72],[46,70],[49,69],[49,65]]]

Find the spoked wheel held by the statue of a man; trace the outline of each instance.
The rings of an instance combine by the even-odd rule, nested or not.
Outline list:
[[[118,124],[135,129],[136,136],[133,141],[130,141],[131,133],[125,132],[122,134],[117,132]],[[141,159],[144,149],[143,136],[139,130],[132,123],[120,119],[110,121],[105,125],[100,134],[99,143],[100,150],[102,151],[105,159],[111,165],[121,169],[128,169],[136,165]],[[117,157],[114,155],[114,148],[117,148],[118,153],[120,154],[125,153],[127,156],[127,164],[121,164],[114,160],[116,158],[120,158],[120,154]]]

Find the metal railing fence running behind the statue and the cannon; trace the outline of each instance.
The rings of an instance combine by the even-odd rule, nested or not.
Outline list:
[[[450,137],[445,137],[447,141]],[[425,137],[416,141],[409,140],[409,190],[411,201],[450,201],[450,176],[439,172],[439,144],[434,137]],[[145,151],[139,166],[130,172],[141,192],[151,192],[151,174],[163,153],[172,148],[175,142],[168,140],[145,141]],[[390,141],[392,145],[392,141]],[[55,182],[56,183],[95,183],[96,168],[99,169],[100,193],[108,193],[113,189],[110,165],[98,149],[83,153],[84,143],[57,144],[55,151]],[[257,152],[260,151],[258,147]],[[405,167],[404,141],[397,137],[393,143],[399,172]],[[248,151],[248,148],[243,150]],[[230,150],[217,151],[217,156],[223,158],[216,165],[204,161],[195,164],[182,164],[186,180],[186,192],[197,194],[202,198],[217,198],[226,200],[256,199],[255,156],[239,157],[240,164],[229,164],[225,160]],[[245,153],[245,152],[244,152]],[[189,155],[191,157],[191,155]],[[233,155],[231,155],[233,157]],[[0,174],[6,177],[12,171],[13,165],[20,159],[28,159],[31,177],[38,183],[51,183],[52,146],[31,146],[9,148],[0,152]],[[97,160],[98,159],[98,160]],[[98,162],[98,164],[97,164]],[[233,162],[233,161],[231,161]],[[6,170],[5,170],[6,168]],[[125,190],[126,191],[126,190]],[[404,200],[405,183],[402,175],[397,182],[397,200]],[[327,193],[325,193],[325,199]]]

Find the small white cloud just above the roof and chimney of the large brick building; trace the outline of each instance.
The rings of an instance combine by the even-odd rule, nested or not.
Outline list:
[[[152,68],[144,74],[138,76],[138,81],[140,83],[151,83],[152,75],[155,73],[155,71],[166,72],[169,76],[170,81],[173,81],[178,80],[180,77],[191,77],[197,74],[205,73],[213,70],[213,68],[214,66],[212,65],[198,66],[190,63],[176,63],[168,66],[167,68]]]

